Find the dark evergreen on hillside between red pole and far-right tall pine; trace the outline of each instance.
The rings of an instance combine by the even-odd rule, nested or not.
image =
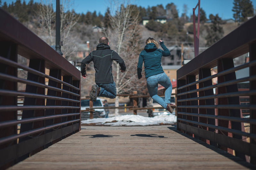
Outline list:
[[[206,46],[211,46],[215,42],[219,41],[224,34],[223,28],[220,26],[221,18],[216,14],[216,16],[212,17],[212,25],[210,26],[210,30],[208,31],[208,35],[206,36]]]

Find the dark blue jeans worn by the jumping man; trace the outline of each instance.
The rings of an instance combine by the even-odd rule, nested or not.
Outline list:
[[[110,99],[116,98],[116,83],[109,83],[109,84],[100,84],[96,83],[100,87],[100,94],[101,97],[107,97]]]

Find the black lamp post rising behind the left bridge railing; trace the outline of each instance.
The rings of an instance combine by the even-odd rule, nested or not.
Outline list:
[[[63,46],[63,42],[60,41],[60,0],[56,0],[56,51],[63,55],[60,48]]]

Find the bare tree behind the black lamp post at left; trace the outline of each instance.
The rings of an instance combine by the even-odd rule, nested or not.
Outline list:
[[[74,10],[68,10],[73,6],[71,2],[73,1],[61,0],[60,2],[60,36],[61,41],[64,42],[61,51],[67,60],[71,60],[75,55],[77,34],[70,36],[70,32],[79,19]],[[55,43],[55,5],[53,0],[41,0],[39,9],[36,11],[41,26],[41,32],[38,31],[38,36],[50,46]]]

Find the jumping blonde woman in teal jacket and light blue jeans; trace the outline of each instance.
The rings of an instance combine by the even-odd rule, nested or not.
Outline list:
[[[144,50],[140,52],[137,73],[138,78],[142,78],[141,71],[142,64],[144,62],[145,78],[147,78],[147,88],[150,97],[172,113],[173,108],[176,107],[170,101],[172,95],[172,83],[168,76],[164,73],[161,65],[162,56],[166,57],[171,55],[171,53],[168,48],[165,47],[164,41],[159,41],[164,51],[158,49],[158,43],[154,38],[149,37],[147,39]],[[164,92],[164,100],[157,95],[158,84],[162,85],[166,89]]]

